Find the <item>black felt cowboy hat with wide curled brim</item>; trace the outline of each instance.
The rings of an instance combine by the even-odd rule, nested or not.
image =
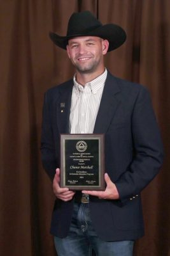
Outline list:
[[[116,24],[103,25],[89,11],[73,13],[67,26],[67,35],[59,36],[50,32],[54,44],[66,50],[68,40],[76,36],[99,36],[109,41],[108,51],[113,51],[124,44],[126,33]]]

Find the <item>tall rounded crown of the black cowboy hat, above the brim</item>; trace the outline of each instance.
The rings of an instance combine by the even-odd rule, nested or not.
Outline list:
[[[67,36],[87,33],[101,26],[101,22],[89,11],[73,13],[68,22]]]

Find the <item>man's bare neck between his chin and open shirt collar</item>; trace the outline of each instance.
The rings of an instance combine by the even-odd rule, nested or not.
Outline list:
[[[76,72],[76,81],[77,83],[85,86],[86,83],[89,83],[90,81],[96,79],[96,77],[100,76],[101,74],[103,74],[104,72],[104,67],[102,70],[99,70],[97,72],[93,72],[93,73],[80,73],[80,72]]]

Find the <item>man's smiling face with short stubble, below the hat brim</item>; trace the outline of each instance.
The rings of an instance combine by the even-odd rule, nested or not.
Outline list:
[[[79,73],[92,73],[103,69],[108,45],[108,40],[97,36],[75,37],[68,42],[67,54]]]

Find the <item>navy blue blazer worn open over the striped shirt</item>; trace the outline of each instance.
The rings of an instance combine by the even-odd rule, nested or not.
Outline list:
[[[60,167],[60,134],[69,132],[72,89],[73,79],[45,93],[41,156],[51,179]],[[65,108],[61,108],[63,102]],[[94,133],[105,134],[105,170],[120,195],[120,200],[90,196],[94,228],[104,241],[138,239],[144,234],[140,193],[157,175],[163,159],[160,132],[146,88],[108,72]],[[55,200],[54,236],[67,236],[73,202]]]

